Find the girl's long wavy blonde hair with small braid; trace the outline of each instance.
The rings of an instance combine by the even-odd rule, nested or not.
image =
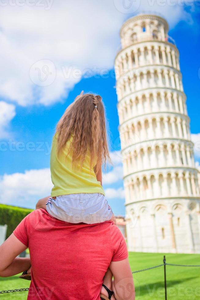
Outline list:
[[[73,136],[68,154],[72,150],[72,166],[83,166],[86,153],[91,155],[90,168],[94,161],[97,174],[102,163],[111,162],[106,138],[106,120],[102,97],[84,94],[76,97],[57,124],[57,155],[61,154],[66,142]]]

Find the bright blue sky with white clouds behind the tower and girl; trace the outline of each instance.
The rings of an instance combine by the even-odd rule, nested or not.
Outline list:
[[[120,46],[119,29],[127,18],[143,10],[143,2],[140,3],[140,9],[124,13],[119,11],[118,6],[116,9],[116,1],[102,1],[101,4],[96,0],[88,1],[94,18],[79,20],[80,26],[79,21],[78,24],[73,23],[71,30],[71,24],[68,22],[63,27],[64,8],[69,14],[69,20],[70,12],[76,12],[77,19],[79,16],[82,18],[84,9],[87,18],[87,6],[82,6],[80,2],[80,6],[74,7],[73,3],[70,2],[68,7],[67,4],[63,7],[60,2],[59,5],[53,3],[49,10],[37,6],[24,6],[23,9],[8,6],[1,8],[5,10],[6,17],[1,19],[2,12],[0,13],[0,40],[2,39],[4,49],[2,56],[5,57],[0,83],[0,202],[33,208],[39,197],[50,194],[50,144],[55,126],[65,108],[81,90],[84,90],[100,94],[106,106],[114,167],[110,167],[107,176],[104,176],[104,188],[113,211],[116,214],[124,214],[113,62]],[[148,10],[156,10],[166,17],[170,25],[169,35],[175,39],[180,51],[180,67],[187,95],[188,114],[191,118],[191,133],[193,140],[198,143],[200,6],[197,4],[194,1],[193,6],[177,4],[164,8],[156,4]],[[37,11],[41,19],[39,17],[36,20],[32,17],[31,9]],[[13,17],[13,13],[21,13],[21,24],[17,29],[13,29],[14,21],[8,17]],[[27,13],[30,14],[31,20],[24,18],[24,14]],[[61,24],[59,20],[50,24],[55,13],[60,16]],[[55,42],[52,42],[52,39]],[[56,47],[56,43],[62,51],[60,47]],[[13,50],[9,52],[6,48],[10,49],[8,45],[15,48],[12,47]],[[31,66],[42,59],[49,59],[56,66],[56,79],[49,87],[38,87],[33,83],[34,79],[30,78]],[[107,69],[107,76],[103,78],[97,74],[91,78],[66,79],[61,72],[62,66],[72,66],[82,71],[97,66],[100,70]],[[29,150],[26,149],[28,147]],[[198,151],[196,160],[200,161]]]

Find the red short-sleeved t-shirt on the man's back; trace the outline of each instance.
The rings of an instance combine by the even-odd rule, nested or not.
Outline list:
[[[100,299],[110,262],[128,257],[124,237],[112,221],[72,224],[37,209],[21,221],[14,234],[30,250],[28,299]]]

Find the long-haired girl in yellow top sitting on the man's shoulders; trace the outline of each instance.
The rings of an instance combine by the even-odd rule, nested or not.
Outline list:
[[[54,187],[36,208],[69,223],[116,222],[102,188],[102,163],[107,159],[110,161],[102,98],[82,91],[57,124],[50,157]],[[112,287],[109,269],[104,283],[101,299],[114,299],[107,287]]]

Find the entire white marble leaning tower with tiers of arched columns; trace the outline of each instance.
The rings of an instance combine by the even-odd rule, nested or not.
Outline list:
[[[128,248],[200,253],[200,194],[179,51],[162,17],[120,31],[115,59]]]

